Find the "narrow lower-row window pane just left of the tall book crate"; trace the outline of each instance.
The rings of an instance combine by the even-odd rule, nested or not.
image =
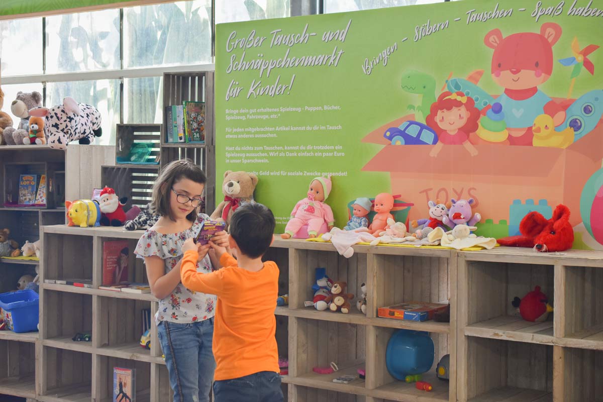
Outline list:
[[[124,81],[124,122],[162,123],[163,77],[131,78]]]

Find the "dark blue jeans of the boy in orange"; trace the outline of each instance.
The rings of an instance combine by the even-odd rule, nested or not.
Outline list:
[[[280,375],[260,371],[245,377],[213,383],[215,402],[283,402]]]

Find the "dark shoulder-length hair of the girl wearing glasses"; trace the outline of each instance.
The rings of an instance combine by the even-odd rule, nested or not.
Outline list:
[[[159,216],[167,216],[171,221],[175,221],[172,210],[169,207],[169,198],[172,193],[172,187],[175,183],[188,178],[199,184],[205,184],[207,178],[201,168],[195,165],[190,159],[174,160],[165,168],[161,169],[159,177],[153,185],[153,199],[151,200],[151,209]],[[197,209],[192,210],[186,216],[191,222],[197,220]]]

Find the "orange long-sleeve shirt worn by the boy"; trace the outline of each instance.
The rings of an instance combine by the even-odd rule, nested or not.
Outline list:
[[[280,372],[276,331],[279,267],[268,261],[250,272],[223,254],[224,267],[210,274],[197,272],[198,254],[185,253],[180,266],[182,284],[191,291],[217,295],[213,324],[214,380],[230,380],[260,371]]]

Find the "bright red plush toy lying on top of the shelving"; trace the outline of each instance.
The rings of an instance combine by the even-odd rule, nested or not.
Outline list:
[[[569,208],[558,205],[551,219],[538,212],[524,216],[519,231],[522,236],[505,237],[498,243],[511,247],[533,247],[535,251],[564,251],[572,248],[573,228],[569,224]]]

